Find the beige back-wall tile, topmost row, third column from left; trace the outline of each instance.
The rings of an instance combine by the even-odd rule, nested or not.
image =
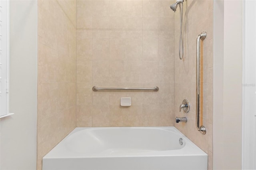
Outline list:
[[[126,0],[110,0],[110,16],[126,16]]]

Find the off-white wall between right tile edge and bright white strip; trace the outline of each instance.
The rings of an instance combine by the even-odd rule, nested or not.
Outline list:
[[[242,0],[214,1],[213,169],[242,168]]]

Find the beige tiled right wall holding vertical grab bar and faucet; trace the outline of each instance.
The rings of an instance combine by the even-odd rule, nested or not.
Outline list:
[[[212,113],[213,113],[213,1],[188,0],[184,2],[183,42],[184,58],[179,59],[180,10],[174,14],[175,22],[175,117],[187,117],[187,123],[175,127],[208,153],[208,169],[212,169]],[[206,127],[203,135],[196,129],[196,38],[206,31],[201,42],[201,125]],[[190,112],[179,112],[183,99],[190,102]]]

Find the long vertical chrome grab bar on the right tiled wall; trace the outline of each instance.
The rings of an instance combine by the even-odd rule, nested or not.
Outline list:
[[[206,128],[200,126],[200,40],[206,38],[206,32],[202,32],[196,38],[196,128],[202,134],[206,134]]]

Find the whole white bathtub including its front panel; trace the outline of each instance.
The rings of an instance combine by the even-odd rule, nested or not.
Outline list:
[[[43,170],[207,170],[207,154],[175,127],[75,128]]]

